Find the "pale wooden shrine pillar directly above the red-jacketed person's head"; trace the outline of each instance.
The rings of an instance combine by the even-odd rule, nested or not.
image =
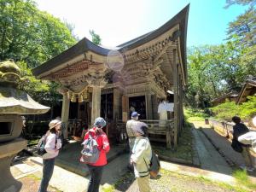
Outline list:
[[[101,116],[101,86],[92,86],[92,100],[91,100],[91,125],[97,117]]]

